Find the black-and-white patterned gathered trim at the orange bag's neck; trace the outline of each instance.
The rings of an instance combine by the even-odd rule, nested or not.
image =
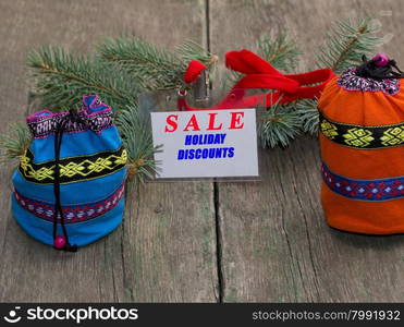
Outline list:
[[[343,72],[338,80],[338,85],[346,90],[376,92],[381,90],[389,95],[395,95],[400,92],[399,80],[372,80],[356,75],[356,69],[351,68]]]

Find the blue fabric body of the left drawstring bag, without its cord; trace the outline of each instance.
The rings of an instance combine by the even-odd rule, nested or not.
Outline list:
[[[88,206],[108,199],[113,192],[119,190],[125,181],[126,168],[123,159],[125,150],[122,149],[122,140],[112,124],[111,108],[100,102],[95,95],[84,97],[83,105],[84,109],[78,112],[82,117],[79,123],[70,121],[63,133],[60,159],[69,162],[65,165],[69,169],[65,168],[65,170],[71,174],[65,173],[64,178],[68,180],[60,184],[60,199],[63,208],[81,209],[83,207],[83,211],[86,213]],[[15,191],[29,198],[29,203],[38,202],[38,208],[40,208],[40,203],[53,205],[56,202],[53,182],[47,183],[41,180],[39,172],[42,169],[54,170],[54,126],[63,116],[71,119],[68,113],[52,114],[46,110],[27,118],[33,133],[29,150],[34,158],[28,161],[28,155],[22,158],[21,167],[13,173],[12,182]],[[117,155],[120,150],[122,154]],[[28,168],[24,170],[23,165]],[[32,172],[29,177],[32,180],[29,180],[27,173]],[[54,175],[54,171],[52,173],[48,175]],[[12,195],[12,211],[13,217],[25,232],[40,242],[53,245],[53,218],[49,221],[44,217],[40,218],[35,210],[29,211],[14,194]],[[99,213],[102,214],[97,214],[100,216],[95,218],[71,220],[65,223],[70,244],[87,245],[113,231],[123,218],[124,197],[117,201],[111,209]],[[58,235],[63,234],[60,222],[57,231]]]

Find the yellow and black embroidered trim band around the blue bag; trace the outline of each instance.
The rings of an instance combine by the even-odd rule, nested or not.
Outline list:
[[[127,152],[123,146],[89,156],[62,158],[59,161],[60,183],[100,178],[122,169],[126,161]],[[19,170],[29,182],[51,184],[54,180],[54,160],[35,164],[34,155],[29,149],[21,157]]]

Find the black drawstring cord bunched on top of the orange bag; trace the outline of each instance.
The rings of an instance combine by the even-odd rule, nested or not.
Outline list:
[[[404,73],[397,68],[395,60],[389,60],[387,64],[378,65],[377,63],[380,60],[380,57],[367,60],[366,56],[364,55],[362,57],[363,64],[356,68],[356,75],[374,80],[391,80],[404,77]],[[393,71],[393,68],[396,70],[396,72]]]

